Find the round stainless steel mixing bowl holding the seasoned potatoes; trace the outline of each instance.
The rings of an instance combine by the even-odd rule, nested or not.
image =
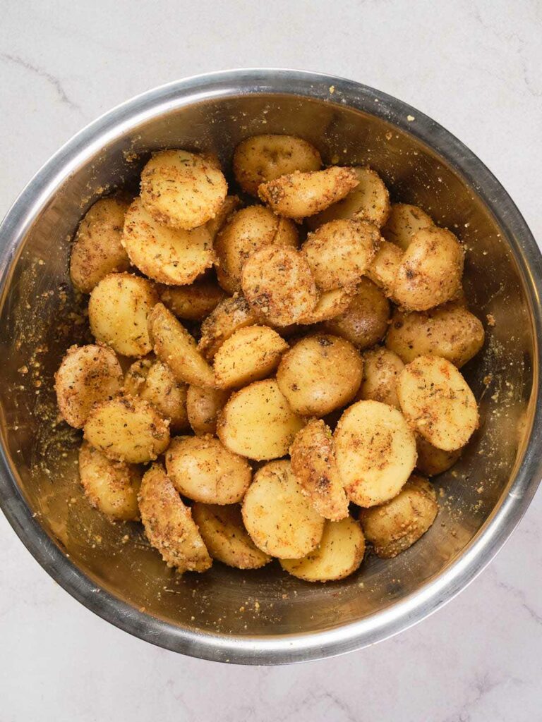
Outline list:
[[[217,564],[205,575],[177,578],[136,526],[113,526],[82,499],[77,433],[56,422],[51,391],[64,349],[86,333],[83,318],[69,318],[66,274],[69,238],[85,209],[107,189],[135,182],[150,149],[201,147],[228,163],[239,140],[261,132],[304,136],[327,162],[369,163],[395,199],[423,206],[452,228],[469,249],[470,304],[495,319],[483,352],[465,368],[481,428],[460,463],[436,479],[437,522],[395,560],[370,557],[357,575],[325,586],[288,578],[278,567],[244,573]],[[142,639],[248,664],[378,642],[464,588],[533,497],[542,474],[541,255],[489,170],[400,100],[285,70],[165,85],[111,110],[61,148],[21,193],[0,234],[1,506],[66,591]]]

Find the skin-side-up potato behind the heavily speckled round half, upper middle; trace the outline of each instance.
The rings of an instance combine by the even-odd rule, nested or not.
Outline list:
[[[266,245],[298,245],[298,232],[288,218],[265,206],[249,206],[234,213],[215,240],[218,282],[229,294],[241,290],[241,271],[247,258]]]

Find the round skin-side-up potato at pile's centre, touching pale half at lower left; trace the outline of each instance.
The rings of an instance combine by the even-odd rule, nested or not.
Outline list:
[[[345,339],[313,334],[285,353],[277,383],[294,412],[322,417],[356,396],[363,367],[361,356]]]

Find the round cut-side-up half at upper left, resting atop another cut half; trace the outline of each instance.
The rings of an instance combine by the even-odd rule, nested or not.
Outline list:
[[[164,150],[141,174],[141,200],[158,223],[192,230],[214,218],[228,193],[222,171],[205,155]]]

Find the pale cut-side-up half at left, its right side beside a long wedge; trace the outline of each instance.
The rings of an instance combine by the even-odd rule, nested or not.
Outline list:
[[[155,287],[147,279],[129,273],[109,274],[90,294],[90,331],[118,354],[146,356],[152,349],[148,316],[157,301]]]

